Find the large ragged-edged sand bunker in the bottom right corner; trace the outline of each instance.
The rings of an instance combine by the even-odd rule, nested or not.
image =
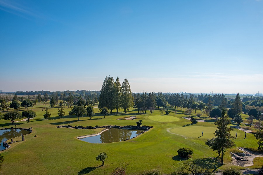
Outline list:
[[[240,167],[248,167],[253,165],[253,159],[256,157],[262,157],[262,154],[259,153],[252,153],[248,150],[240,147],[239,150],[243,151],[243,153],[231,153],[231,157],[233,158],[232,164],[240,166]]]

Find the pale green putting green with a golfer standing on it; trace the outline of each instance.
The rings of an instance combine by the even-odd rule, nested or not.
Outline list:
[[[214,137],[214,131],[216,127],[205,127],[205,126],[186,126],[186,127],[176,127],[169,129],[169,132],[178,134],[185,137],[192,137],[192,138],[201,138],[201,139],[208,139]],[[203,136],[202,136],[202,131]]]

